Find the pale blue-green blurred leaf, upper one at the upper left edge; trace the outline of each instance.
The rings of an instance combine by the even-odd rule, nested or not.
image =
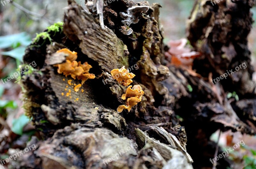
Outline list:
[[[0,48],[5,49],[17,44],[28,46],[31,43],[31,38],[26,32],[21,32],[12,35],[0,36]],[[16,44],[16,45],[15,45]]]

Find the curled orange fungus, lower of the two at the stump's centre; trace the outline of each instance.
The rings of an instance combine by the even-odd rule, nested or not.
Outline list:
[[[121,113],[123,109],[127,109],[128,112],[131,111],[133,106],[136,106],[139,102],[141,102],[142,95],[144,95],[144,91],[142,90],[140,85],[134,85],[129,86],[126,89],[126,93],[122,95],[122,99],[127,101],[125,102],[125,105],[120,105],[117,108],[117,112]]]

